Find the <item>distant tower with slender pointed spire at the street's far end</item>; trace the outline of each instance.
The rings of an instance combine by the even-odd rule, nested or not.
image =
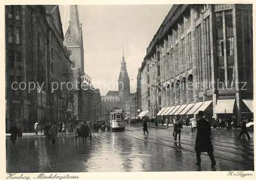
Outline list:
[[[124,53],[121,61],[121,70],[118,78],[118,92],[122,101],[122,109],[124,110],[125,101],[130,97],[130,79],[126,69],[126,62],[124,60]]]

